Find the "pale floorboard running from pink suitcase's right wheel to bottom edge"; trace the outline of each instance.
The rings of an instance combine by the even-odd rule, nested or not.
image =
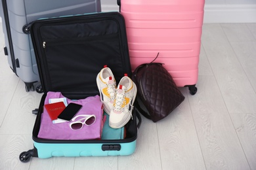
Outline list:
[[[200,76],[198,81],[200,90],[188,99],[206,168],[249,169],[215,78]]]

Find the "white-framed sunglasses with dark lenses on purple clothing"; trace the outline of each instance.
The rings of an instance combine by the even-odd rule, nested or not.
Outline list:
[[[83,118],[75,121],[75,119],[79,118],[79,117],[83,117]],[[92,124],[94,124],[96,121],[96,117],[95,117],[95,114],[81,114],[81,115],[77,115],[74,118],[72,118],[72,121],[75,121],[75,122],[72,122],[70,124],[70,128],[73,130],[79,130],[79,129],[83,128],[84,124],[86,126],[91,126]]]

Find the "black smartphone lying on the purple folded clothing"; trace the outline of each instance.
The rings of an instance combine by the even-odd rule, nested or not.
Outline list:
[[[68,106],[58,115],[58,118],[62,120],[72,120],[72,118],[77,114],[77,112],[81,109],[82,105],[78,105],[75,103],[70,103]]]

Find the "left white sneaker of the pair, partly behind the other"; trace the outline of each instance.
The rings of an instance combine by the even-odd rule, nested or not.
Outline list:
[[[100,100],[103,103],[104,110],[110,114],[112,110],[115,93],[116,93],[116,80],[110,68],[104,66],[96,77],[98,91],[100,92]]]

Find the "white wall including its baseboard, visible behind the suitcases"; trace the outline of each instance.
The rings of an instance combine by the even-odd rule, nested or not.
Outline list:
[[[101,0],[101,3],[102,11],[119,9],[117,0]],[[256,23],[256,0],[205,0],[204,11],[205,23]]]

